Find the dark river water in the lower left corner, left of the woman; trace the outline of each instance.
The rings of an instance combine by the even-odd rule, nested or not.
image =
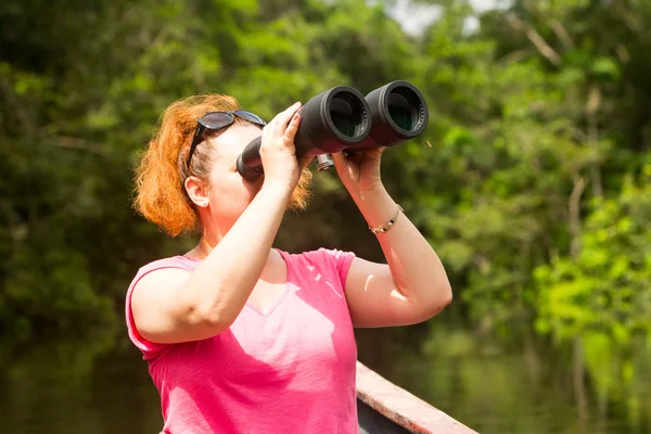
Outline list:
[[[51,342],[0,374],[0,432],[158,433],[158,396],[125,342]]]

